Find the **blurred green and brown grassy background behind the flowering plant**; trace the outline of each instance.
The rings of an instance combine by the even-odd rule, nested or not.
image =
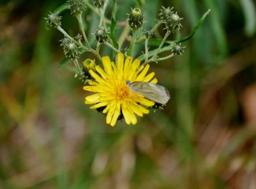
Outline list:
[[[211,13],[182,56],[151,64],[170,91],[164,111],[113,128],[60,66],[62,35],[44,18],[64,2],[0,1],[0,188],[256,188],[253,0],[117,0],[117,20],[141,6],[146,28],[174,6],[181,36]],[[84,17],[93,39],[97,16]]]

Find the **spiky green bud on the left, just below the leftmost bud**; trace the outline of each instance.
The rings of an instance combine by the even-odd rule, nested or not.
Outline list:
[[[61,40],[61,46],[63,46],[64,54],[69,58],[77,58],[80,55],[80,51],[75,43],[69,38]]]

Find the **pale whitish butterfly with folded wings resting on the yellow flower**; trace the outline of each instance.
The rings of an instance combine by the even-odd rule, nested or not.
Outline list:
[[[143,95],[153,102],[165,105],[170,99],[169,91],[161,85],[149,82],[131,82],[129,80],[126,81],[126,84],[132,92]]]

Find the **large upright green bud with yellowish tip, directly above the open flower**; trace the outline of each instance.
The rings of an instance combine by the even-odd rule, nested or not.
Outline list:
[[[132,9],[131,13],[128,17],[128,25],[132,30],[137,30],[138,28],[142,27],[144,22],[143,13],[139,8]]]

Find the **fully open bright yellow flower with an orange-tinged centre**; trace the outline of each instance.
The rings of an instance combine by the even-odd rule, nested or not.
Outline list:
[[[143,117],[143,113],[149,113],[147,107],[154,106],[154,102],[132,92],[126,81],[157,83],[158,80],[153,79],[154,72],[147,75],[150,65],[140,65],[140,61],[132,61],[132,57],[124,60],[123,54],[117,55],[117,64],[107,56],[102,57],[102,62],[104,69],[96,65],[97,72],[89,71],[95,81],[90,81],[83,90],[94,94],[85,98],[85,104],[94,104],[91,109],[101,109],[102,113],[106,113],[106,124],[111,126],[123,117],[126,124],[136,124],[135,114]]]

